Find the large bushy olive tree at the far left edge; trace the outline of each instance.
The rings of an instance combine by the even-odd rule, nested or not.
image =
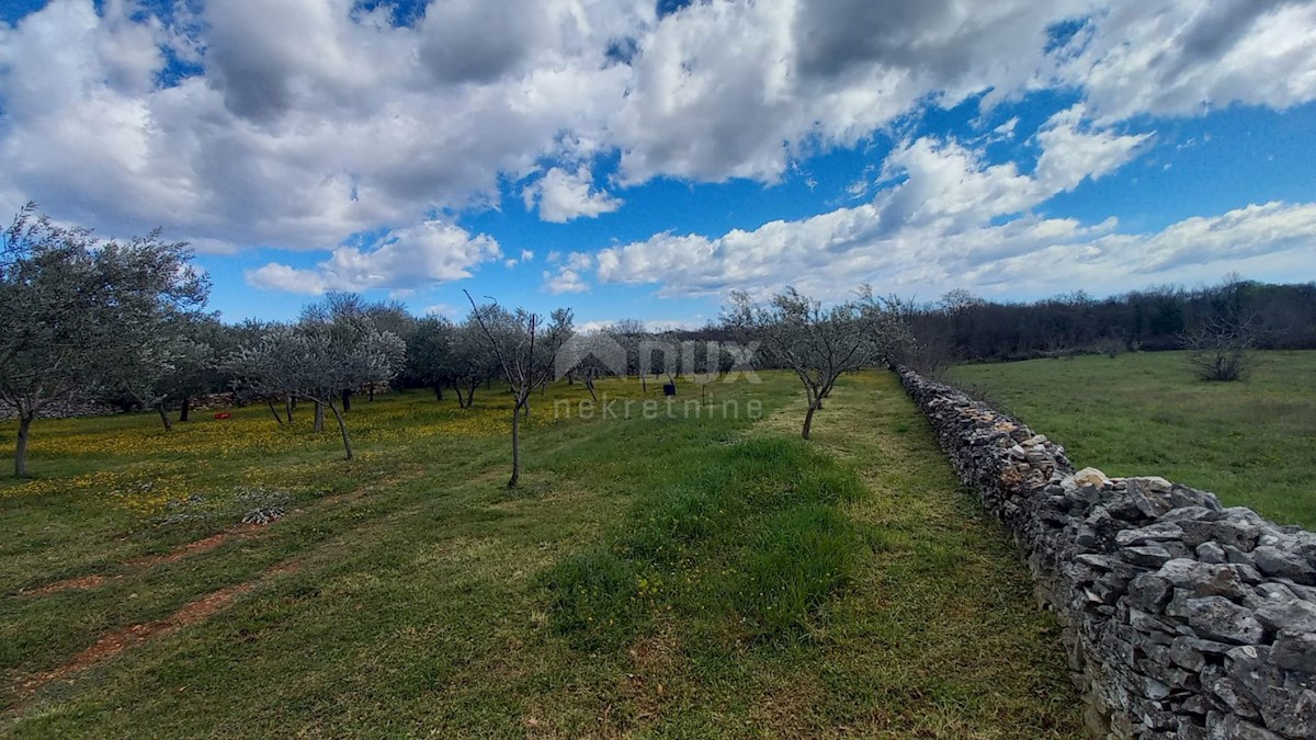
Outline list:
[[[18,415],[14,474],[28,473],[32,421],[49,404],[161,361],[179,316],[209,292],[183,242],[159,230],[101,242],[28,204],[0,234],[0,402]]]

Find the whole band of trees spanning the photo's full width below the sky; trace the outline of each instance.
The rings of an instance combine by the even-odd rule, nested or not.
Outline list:
[[[267,407],[279,425],[307,404],[315,432],[326,412],[333,417],[351,460],[354,396],[428,388],[436,402],[450,392],[471,408],[476,394],[497,392],[509,400],[516,486],[533,394],[563,374],[597,400],[595,383],[609,375],[637,378],[647,392],[690,374],[707,382],[736,369],[787,369],[805,391],[800,435],[809,438],[838,378],[867,367],[1190,346],[1203,377],[1230,379],[1212,374],[1237,375],[1254,346],[1316,348],[1316,286],[1237,278],[1020,304],[966,291],[916,304],[866,286],[826,305],[794,288],[758,299],[734,292],[717,321],[680,332],[650,332],[638,320],[579,332],[569,308],[540,315],[470,294],[459,321],[416,317],[397,302],[332,292],[296,321],[229,325],[205,311],[211,286],[191,258],[159,232],[103,242],[33,205],[0,234],[0,403],[18,417],[16,475],[28,473],[33,421],[72,398],[153,411],[166,432],[175,413],[187,421],[193,402],[217,392]]]

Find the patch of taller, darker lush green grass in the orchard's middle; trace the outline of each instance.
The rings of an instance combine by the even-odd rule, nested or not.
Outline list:
[[[645,614],[696,615],[730,639],[816,635],[866,546],[837,504],[865,491],[850,466],[801,440],[690,456],[641,495],[605,549],[550,570],[553,628],[587,649],[622,645]]]

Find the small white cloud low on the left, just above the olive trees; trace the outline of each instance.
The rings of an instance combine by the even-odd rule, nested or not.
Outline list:
[[[368,249],[340,246],[311,270],[271,262],[246,274],[262,288],[316,295],[325,291],[361,291],[413,287],[468,278],[471,269],[501,255],[497,241],[442,221],[388,232]]]

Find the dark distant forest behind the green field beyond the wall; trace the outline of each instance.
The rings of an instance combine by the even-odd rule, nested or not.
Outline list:
[[[901,312],[930,365],[1183,349],[1188,333],[1212,324],[1244,328],[1257,349],[1316,349],[1316,283],[1228,278],[1195,290],[1158,286],[1105,299],[1079,291],[1034,303],[957,290]]]

